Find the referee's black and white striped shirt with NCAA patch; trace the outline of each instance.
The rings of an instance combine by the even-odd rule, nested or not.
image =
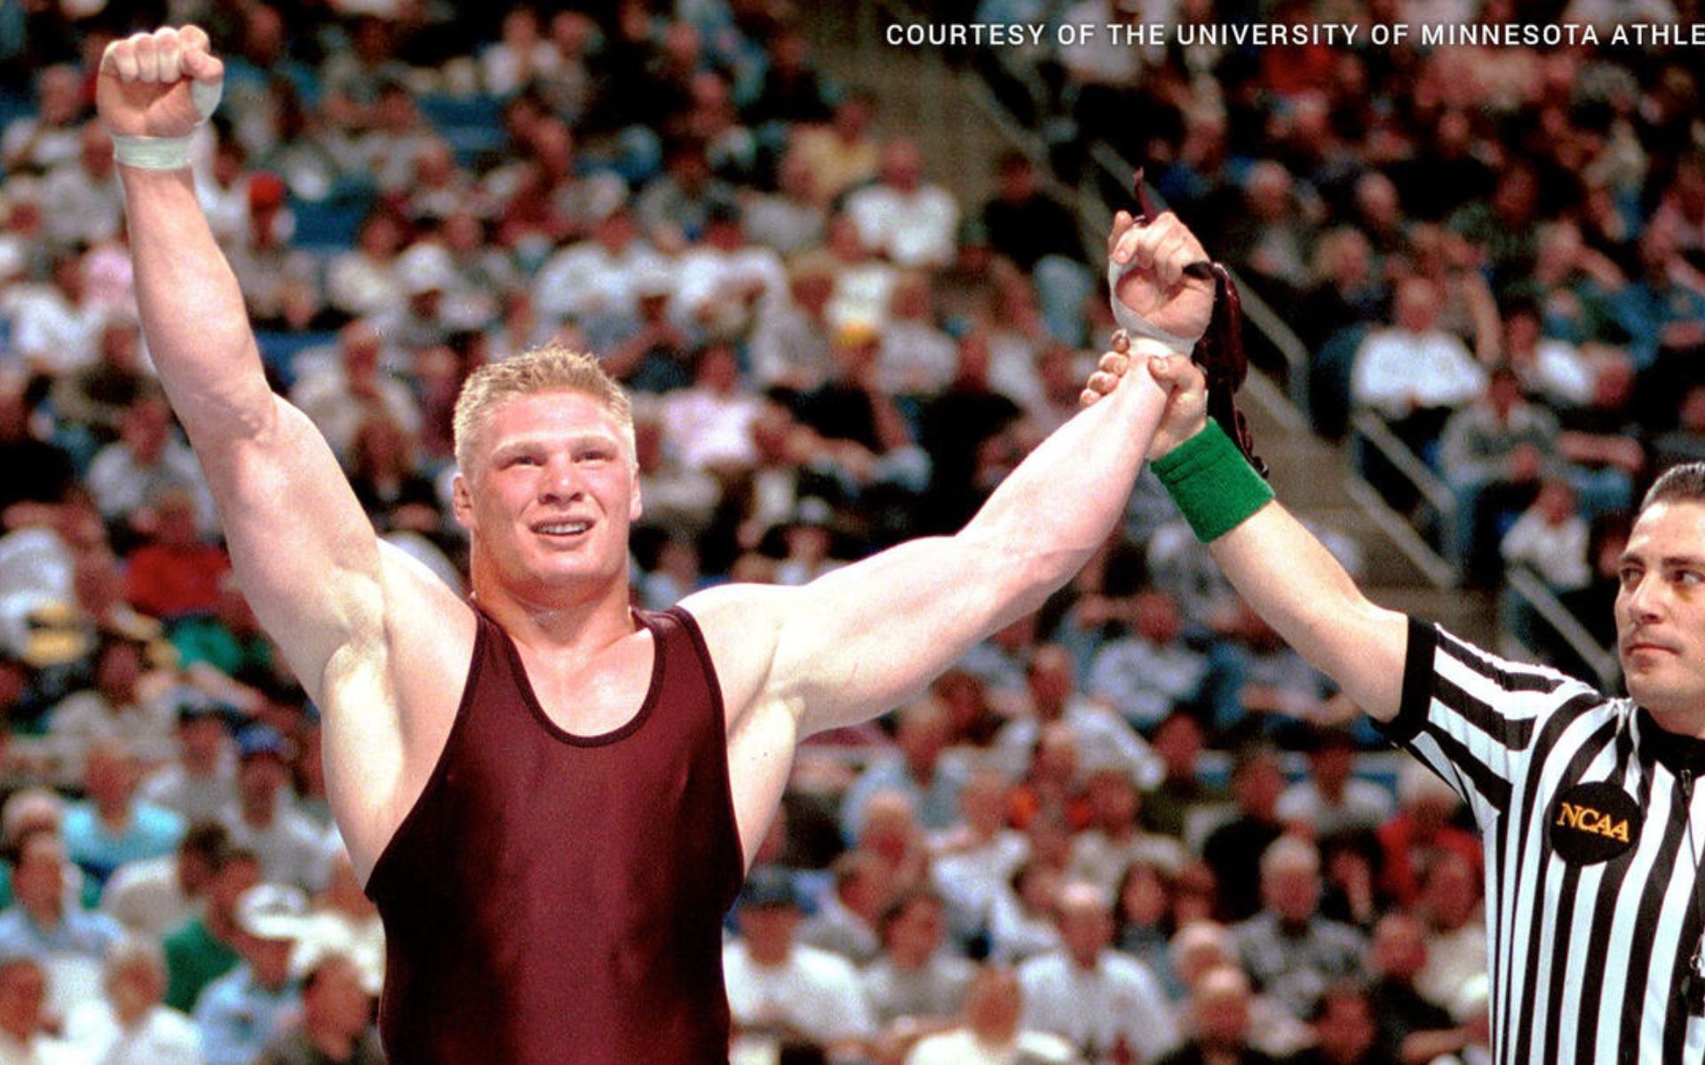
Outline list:
[[[1480,825],[1494,1060],[1705,1062],[1705,1016],[1685,995],[1705,741],[1415,620],[1384,731]]]

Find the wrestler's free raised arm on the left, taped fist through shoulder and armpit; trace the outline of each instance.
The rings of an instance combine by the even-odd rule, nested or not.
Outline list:
[[[402,801],[404,751],[435,750],[426,729],[404,729],[411,685],[465,668],[474,622],[425,567],[379,542],[331,446],[266,383],[188,165],[222,73],[198,27],[135,34],[102,56],[97,106],[118,148],[148,351],[206,472],[242,591],[326,712],[327,789],[365,869]],[[392,670],[404,658],[416,666]]]

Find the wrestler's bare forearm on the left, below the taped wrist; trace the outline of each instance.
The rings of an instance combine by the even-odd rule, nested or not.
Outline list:
[[[273,395],[242,291],[189,170],[119,174],[142,327],[172,409],[201,441],[257,433],[273,414]]]

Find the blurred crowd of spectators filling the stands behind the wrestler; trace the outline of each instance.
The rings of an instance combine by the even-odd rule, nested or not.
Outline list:
[[[975,15],[1693,17],[1509,7]],[[1096,138],[1282,308],[1323,433],[1366,409],[1434,465],[1453,513],[1364,469],[1471,583],[1531,566],[1608,619],[1616,515],[1705,457],[1690,55],[1004,49],[977,66],[1052,150],[977,160],[994,194],[962,203],[965,160],[825,75],[781,0],[3,5],[0,1063],[379,1053],[317,712],[152,375],[92,123],[101,48],[164,19],[227,61],[198,189],[275,387],[459,588],[457,387],[544,343],[634,394],[639,607],[958,528],[1110,331],[1049,193]],[[1478,843],[1354,716],[1141,482],[1038,613],[801,748],[730,915],[737,1056],[1482,1060]]]

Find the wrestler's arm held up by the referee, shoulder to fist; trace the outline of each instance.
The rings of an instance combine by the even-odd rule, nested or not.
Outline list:
[[[1139,257],[1132,298],[1171,332],[1200,336],[1214,286],[1183,273],[1204,257],[1195,237],[1166,215],[1149,227]],[[1136,341],[1132,349],[1163,348]],[[902,544],[803,588],[692,596],[685,605],[704,622],[725,688],[738,705],[784,707],[801,733],[902,704],[977,641],[1040,607],[1103,544],[1163,402],[1146,373],[1130,373],[1042,441],[958,535]]]

